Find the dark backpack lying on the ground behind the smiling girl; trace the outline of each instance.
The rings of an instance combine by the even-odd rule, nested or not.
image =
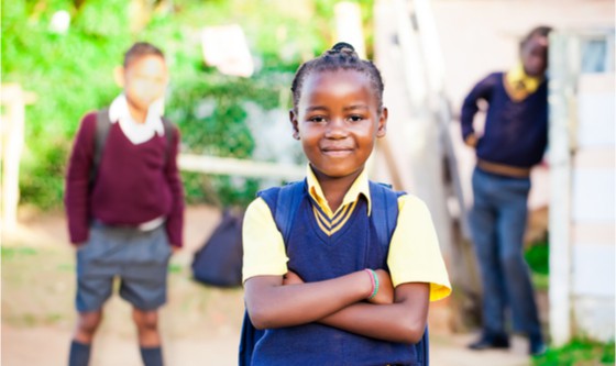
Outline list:
[[[243,213],[224,210],[220,223],[193,257],[195,280],[218,287],[242,285]]]

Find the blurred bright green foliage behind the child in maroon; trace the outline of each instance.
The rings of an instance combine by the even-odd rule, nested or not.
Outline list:
[[[131,2],[150,8],[135,16],[129,14]],[[372,1],[360,3],[367,19]],[[64,171],[79,120],[120,92],[113,68],[134,41],[150,41],[166,53],[172,75],[166,114],[180,127],[183,152],[250,158],[254,140],[245,125],[245,102],[264,110],[289,107],[289,80],[298,65],[330,46],[333,4],[2,0],[2,82],[19,82],[37,96],[26,108],[21,201],[43,209],[62,203]],[[65,34],[50,30],[58,10],[72,15]],[[224,76],[204,64],[201,29],[229,23],[241,24],[246,34],[257,65],[251,78]],[[213,189],[210,195],[219,196],[223,204],[245,204],[258,187],[254,179],[238,177],[189,173],[183,177],[189,202],[208,200],[206,180]]]

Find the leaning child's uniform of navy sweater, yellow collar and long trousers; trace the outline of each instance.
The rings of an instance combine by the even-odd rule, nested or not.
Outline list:
[[[483,284],[483,333],[508,344],[505,309],[514,329],[542,344],[530,274],[522,255],[530,169],[548,144],[548,82],[529,77],[521,65],[493,73],[464,99],[462,137],[474,134],[477,101],[488,103],[476,145],[470,229]]]

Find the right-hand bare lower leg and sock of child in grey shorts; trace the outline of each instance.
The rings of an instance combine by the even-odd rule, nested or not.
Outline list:
[[[156,310],[133,309],[141,358],[145,366],[162,366],[161,334],[158,333],[158,312]]]

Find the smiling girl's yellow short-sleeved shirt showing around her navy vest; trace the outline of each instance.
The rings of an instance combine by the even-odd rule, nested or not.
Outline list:
[[[367,199],[367,213],[371,214],[372,203],[365,170],[355,179],[337,212],[331,211],[310,167],[307,181],[309,195],[322,213],[333,218],[337,213],[346,211],[333,228],[321,225],[321,230],[329,231],[330,235],[346,223],[360,195]],[[419,198],[404,195],[398,198],[398,222],[387,256],[394,287],[406,282],[429,282],[430,301],[448,297],[451,285],[428,208]],[[318,210],[314,211],[315,215],[322,214]],[[242,240],[244,281],[254,276],[283,276],[287,273],[288,257],[283,236],[276,228],[270,207],[261,198],[254,200],[245,212]]]

